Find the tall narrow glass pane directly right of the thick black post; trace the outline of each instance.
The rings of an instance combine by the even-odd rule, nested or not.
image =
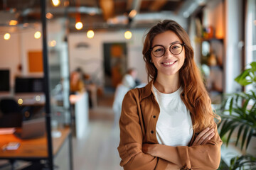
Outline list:
[[[46,42],[48,54],[50,125],[53,164],[58,169],[72,169],[71,113],[69,102],[68,42],[65,5],[46,4]],[[62,149],[60,149],[62,148]]]

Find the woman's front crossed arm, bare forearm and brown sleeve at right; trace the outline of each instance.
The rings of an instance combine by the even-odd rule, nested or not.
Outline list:
[[[214,123],[215,136],[205,145],[178,146],[156,145],[160,157],[169,162],[175,162],[184,169],[218,169],[220,164],[220,146],[222,141],[218,135],[217,125]],[[174,157],[174,154],[178,157]]]

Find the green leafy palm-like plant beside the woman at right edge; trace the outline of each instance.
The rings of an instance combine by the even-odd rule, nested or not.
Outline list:
[[[230,160],[228,169],[256,169],[256,157],[246,153],[252,137],[256,137],[256,62],[250,63],[250,68],[245,69],[235,81],[242,86],[252,84],[253,88],[228,95],[220,108],[222,121],[218,129],[223,143],[227,146],[230,137],[237,133],[235,145],[240,143],[240,149],[245,151],[242,156]]]

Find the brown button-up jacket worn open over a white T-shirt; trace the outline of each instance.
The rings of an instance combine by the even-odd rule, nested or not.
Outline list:
[[[188,146],[165,146],[171,147],[170,149],[173,150],[171,155],[178,157],[176,162],[168,162],[142,152],[142,144],[158,144],[156,122],[160,108],[151,91],[152,84],[153,81],[144,88],[132,89],[124,97],[119,120],[120,143],[117,148],[122,159],[120,165],[124,166],[124,169],[131,170],[218,169],[222,141],[215,123],[213,125],[215,136],[205,145],[191,146],[196,139],[194,133]],[[183,100],[182,95],[181,98]],[[184,100],[183,102],[185,103]]]

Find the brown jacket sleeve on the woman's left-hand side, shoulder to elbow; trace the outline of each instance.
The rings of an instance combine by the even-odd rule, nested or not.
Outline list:
[[[142,152],[143,132],[138,113],[139,101],[137,101],[134,91],[129,91],[124,96],[122,103],[119,120],[120,142],[117,148],[122,159],[120,166],[124,166],[124,170],[160,170],[166,169],[167,166],[177,166]]]

